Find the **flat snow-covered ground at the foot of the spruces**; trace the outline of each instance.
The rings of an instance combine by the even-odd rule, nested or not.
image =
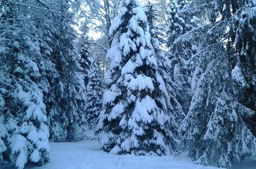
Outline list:
[[[195,165],[186,156],[134,156],[113,155],[99,149],[97,141],[76,143],[50,143],[51,162],[29,169],[218,169],[212,166]],[[15,169],[12,164],[0,169]],[[256,169],[256,159],[237,164],[232,169]]]

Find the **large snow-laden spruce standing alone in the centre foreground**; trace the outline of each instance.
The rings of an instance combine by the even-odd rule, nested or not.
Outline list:
[[[110,34],[103,108],[97,132],[105,151],[115,154],[170,154],[167,90],[158,72],[146,15],[138,1],[122,0]]]

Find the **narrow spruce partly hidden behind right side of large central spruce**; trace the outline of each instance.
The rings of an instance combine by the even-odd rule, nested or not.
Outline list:
[[[145,14],[149,23],[150,34],[152,36],[151,42],[155,51],[155,58],[157,58],[158,72],[162,76],[168,92],[165,97],[167,99],[167,112],[171,119],[171,129],[172,132],[177,134],[178,127],[185,118],[185,114],[180,103],[176,99],[174,88],[177,89],[178,86],[170,77],[171,62],[167,57],[166,51],[160,49],[161,44],[165,42],[162,38],[164,37],[164,33],[162,32],[162,27],[156,25],[157,11],[152,3],[148,3],[146,5]]]

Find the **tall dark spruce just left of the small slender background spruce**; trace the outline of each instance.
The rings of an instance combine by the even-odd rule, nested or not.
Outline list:
[[[54,45],[52,56],[55,58],[59,76],[55,78],[55,101],[48,111],[50,135],[52,141],[78,141],[85,126],[86,86],[84,75],[78,61],[81,60],[74,40],[76,33],[73,21],[72,2],[57,0],[54,2],[57,22],[53,23]]]

